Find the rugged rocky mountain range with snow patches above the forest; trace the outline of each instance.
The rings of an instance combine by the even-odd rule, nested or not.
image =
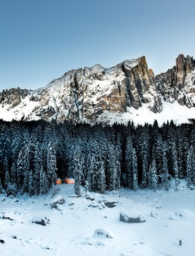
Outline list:
[[[71,70],[38,90],[0,93],[0,118],[73,123],[182,123],[195,117],[195,60],[180,54],[176,65],[154,76],[145,57],[111,68]]]

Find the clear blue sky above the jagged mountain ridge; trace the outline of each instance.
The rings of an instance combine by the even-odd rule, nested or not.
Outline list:
[[[0,0],[0,91],[146,55],[155,74],[195,55],[194,0]]]

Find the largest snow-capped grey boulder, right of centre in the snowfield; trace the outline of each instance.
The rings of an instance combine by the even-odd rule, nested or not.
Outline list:
[[[120,212],[120,221],[125,223],[141,223],[146,220],[139,212],[132,210],[128,213]]]

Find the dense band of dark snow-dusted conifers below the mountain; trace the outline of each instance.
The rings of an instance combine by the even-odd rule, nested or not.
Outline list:
[[[164,187],[170,179],[195,184],[195,125],[102,126],[0,120],[0,192],[30,196],[54,189],[56,179],[74,177],[81,186],[104,193],[120,186]]]

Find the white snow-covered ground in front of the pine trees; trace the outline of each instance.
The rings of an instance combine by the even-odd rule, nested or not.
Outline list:
[[[0,255],[194,255],[195,190],[184,181],[176,192],[123,188],[106,195],[90,193],[90,199],[84,194],[74,197],[73,186],[59,185],[54,198],[19,196],[18,202],[16,198],[2,202],[0,196],[0,240],[5,241],[0,243]],[[62,197],[65,203],[52,209],[50,204]],[[105,202],[117,203],[108,208]],[[139,214],[146,221],[121,222],[120,212]],[[32,222],[40,216],[47,216],[50,223]]]

